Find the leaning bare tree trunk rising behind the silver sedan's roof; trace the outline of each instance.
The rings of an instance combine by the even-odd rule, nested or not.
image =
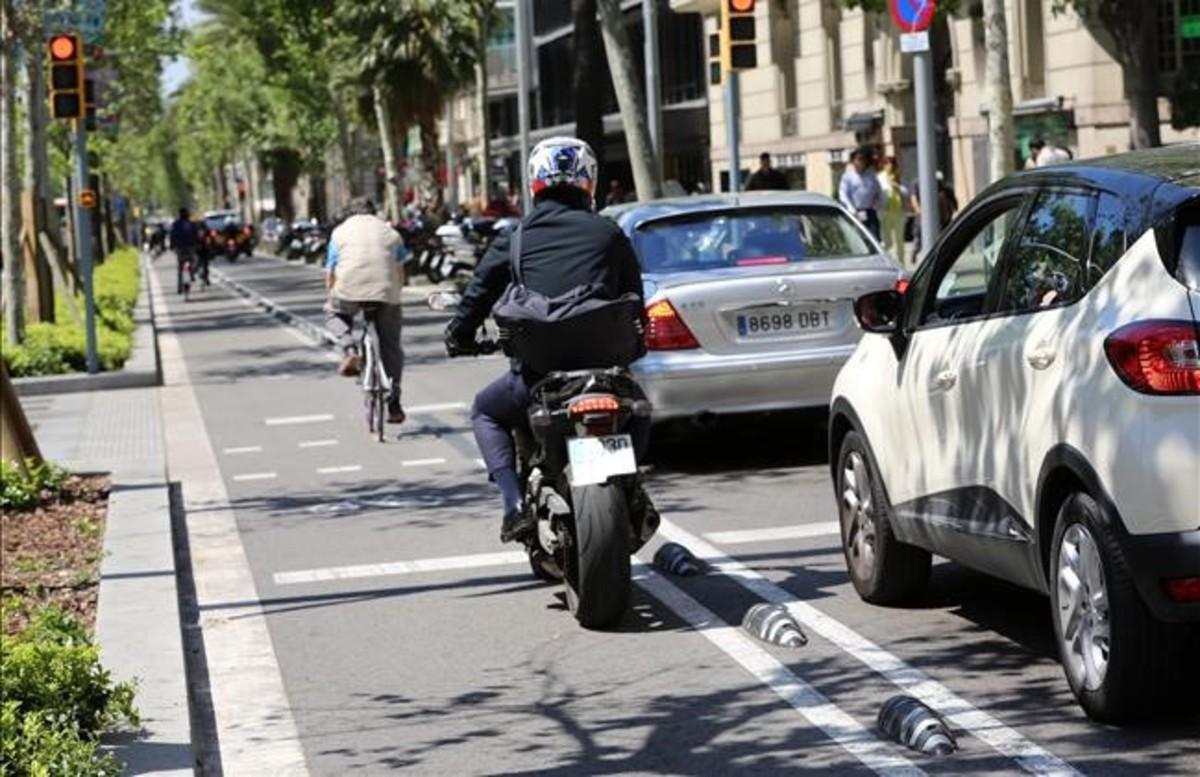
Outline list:
[[[654,173],[659,165],[654,159],[654,146],[650,145],[646,101],[634,67],[634,52],[629,46],[620,0],[596,0],[596,5],[600,7],[600,29],[604,32],[612,86],[617,92],[620,122],[625,128],[629,164],[634,169],[634,187],[637,189],[637,199],[654,199],[660,195],[662,182]]]

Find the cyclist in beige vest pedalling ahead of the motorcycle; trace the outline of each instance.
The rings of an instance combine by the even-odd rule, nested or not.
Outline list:
[[[344,357],[340,375],[359,374],[361,357],[354,342],[354,318],[361,312],[379,333],[379,359],[391,380],[388,422],[403,423],[400,379],[404,349],[400,342],[404,243],[388,222],[376,216],[371,200],[356,200],[334,230],[325,253],[325,329],[337,338]]]

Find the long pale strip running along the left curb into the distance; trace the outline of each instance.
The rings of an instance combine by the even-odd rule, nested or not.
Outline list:
[[[150,288],[160,320],[163,387],[158,396],[167,469],[180,483],[187,516],[221,771],[307,775],[262,607],[253,604],[236,619],[217,609],[222,602],[257,602],[258,591],[157,272],[150,272]]]

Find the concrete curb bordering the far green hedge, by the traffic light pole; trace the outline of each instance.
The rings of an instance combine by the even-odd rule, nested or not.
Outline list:
[[[107,391],[109,389],[142,389],[162,385],[162,366],[158,361],[158,341],[155,337],[154,303],[150,300],[150,263],[142,257],[142,278],[138,302],[133,307],[133,350],[125,366],[116,372],[72,373],[67,375],[38,375],[14,378],[13,386],[22,397],[74,393],[78,391]]]

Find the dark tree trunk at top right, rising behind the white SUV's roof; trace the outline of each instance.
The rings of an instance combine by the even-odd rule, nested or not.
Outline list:
[[[1129,0],[1055,0],[1055,13],[1073,10],[1098,32],[1121,64],[1129,100],[1129,145],[1148,149],[1162,145],[1158,121],[1158,2]]]

